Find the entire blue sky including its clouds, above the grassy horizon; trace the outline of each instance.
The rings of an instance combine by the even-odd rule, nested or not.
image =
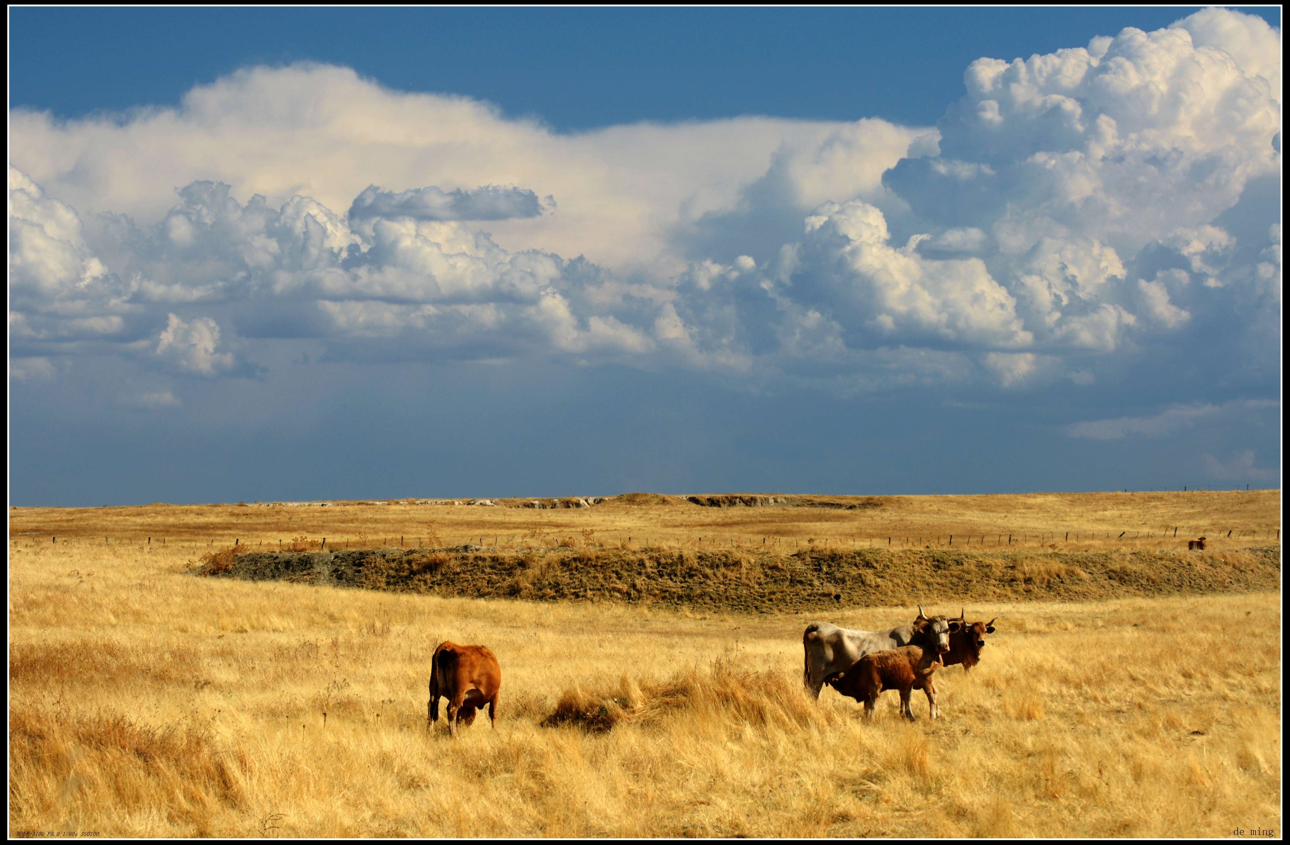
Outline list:
[[[1280,37],[12,9],[10,501],[1280,485]]]

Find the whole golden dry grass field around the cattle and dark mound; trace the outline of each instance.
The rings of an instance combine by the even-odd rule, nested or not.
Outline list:
[[[9,520],[10,836],[1281,836],[1280,492]],[[997,631],[970,673],[938,672],[942,719],[916,697],[913,724],[894,693],[866,722],[857,702],[801,689],[806,622],[877,628],[912,606],[748,613],[183,574],[235,539],[270,551],[322,537],[699,564],[778,541],[805,565],[889,535],[913,538],[902,555],[948,553],[955,534],[956,550],[983,538],[969,560],[1011,561],[1000,572],[1064,553],[1127,566],[1219,529],[1196,557],[1210,574],[1173,592],[1116,596],[1108,581],[1078,601],[1006,584],[973,599],[968,618],[998,617]],[[1020,542],[991,546],[1009,533]],[[1273,564],[1244,551],[1269,544]],[[507,551],[520,548],[544,551]],[[957,614],[958,593],[929,591],[929,613]],[[497,653],[495,730],[427,734],[428,658],[445,639]]]

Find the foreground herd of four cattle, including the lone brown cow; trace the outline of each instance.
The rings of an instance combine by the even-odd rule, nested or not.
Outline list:
[[[997,617],[996,617],[997,619]],[[940,715],[933,672],[961,663],[969,670],[980,662],[986,635],[995,632],[995,619],[968,622],[960,610],[957,619],[928,617],[918,605],[918,618],[890,631],[853,631],[828,622],[811,622],[802,633],[805,670],[802,682],[819,698],[828,684],[842,695],[864,704],[873,716],[878,694],[899,690],[900,715],[913,720],[909,695],[921,689],[928,695],[931,719]],[[439,699],[448,706],[448,733],[458,724],[473,724],[475,711],[488,706],[497,728],[497,702],[502,689],[502,667],[485,645],[457,645],[444,640],[431,658],[430,701],[426,702],[426,730],[439,721]]]

